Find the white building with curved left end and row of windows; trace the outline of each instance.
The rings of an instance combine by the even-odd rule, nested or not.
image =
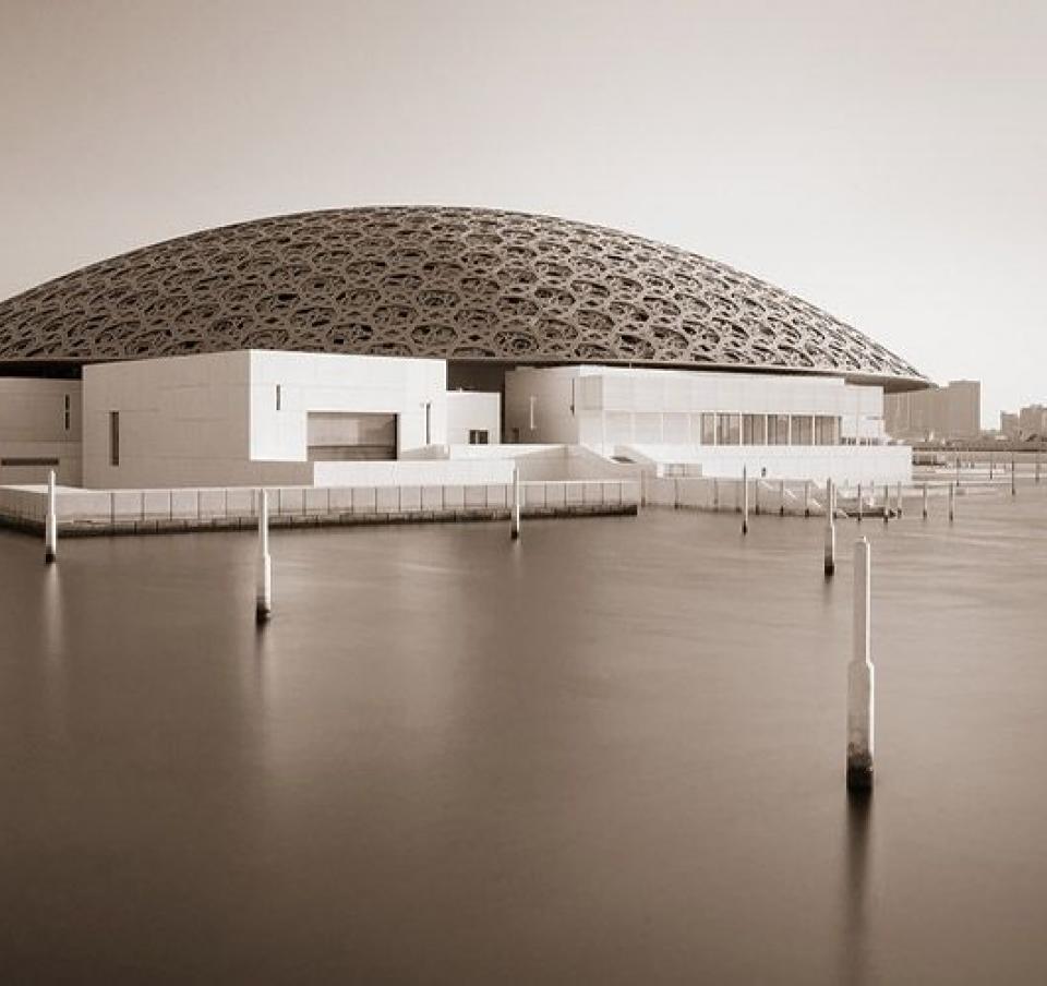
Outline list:
[[[883,392],[841,377],[622,366],[506,374],[510,441],[582,444],[705,476],[893,482],[911,450],[888,446]]]

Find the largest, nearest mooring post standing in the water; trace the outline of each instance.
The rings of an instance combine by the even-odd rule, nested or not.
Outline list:
[[[869,542],[854,545],[854,634],[847,666],[847,790],[872,786],[874,685]]]

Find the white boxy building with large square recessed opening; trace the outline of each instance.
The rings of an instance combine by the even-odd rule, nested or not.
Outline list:
[[[445,381],[443,360],[260,350],[85,366],[84,483],[332,484],[496,434],[498,395]]]

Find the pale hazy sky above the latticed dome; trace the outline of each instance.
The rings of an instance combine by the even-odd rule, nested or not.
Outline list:
[[[277,213],[551,213],[1047,401],[1047,0],[0,0],[0,297]]]

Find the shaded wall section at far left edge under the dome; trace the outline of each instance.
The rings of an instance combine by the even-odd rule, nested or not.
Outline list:
[[[53,469],[60,483],[79,484],[81,456],[80,381],[0,378],[0,483],[44,482]]]

